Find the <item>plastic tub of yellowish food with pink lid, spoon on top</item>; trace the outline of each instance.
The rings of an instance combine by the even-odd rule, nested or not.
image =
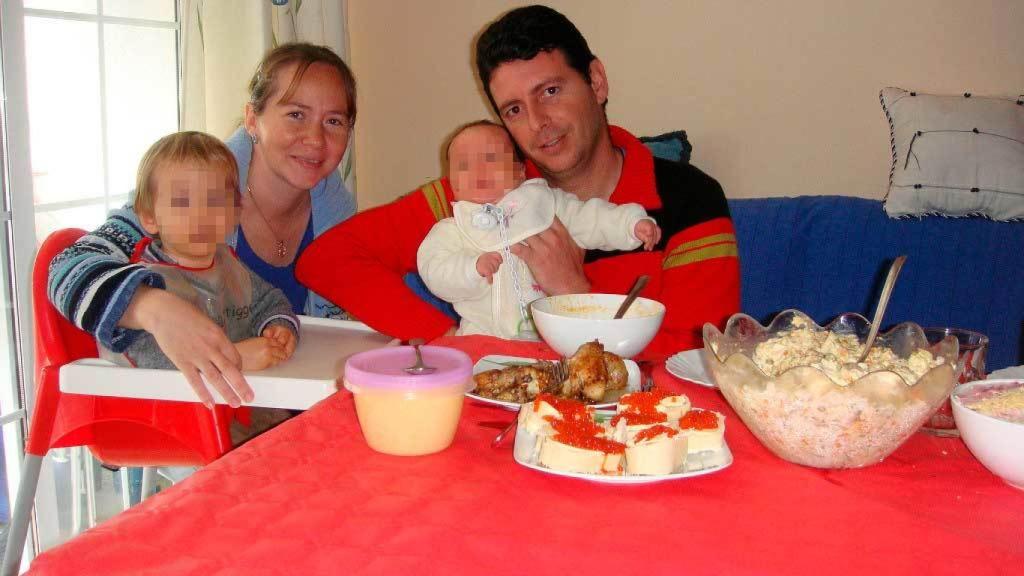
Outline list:
[[[423,363],[436,369],[410,374],[413,346],[389,346],[353,355],[345,362],[345,388],[367,444],[396,456],[432,454],[447,448],[459,427],[465,394],[473,389],[473,363],[461,351],[420,346]]]

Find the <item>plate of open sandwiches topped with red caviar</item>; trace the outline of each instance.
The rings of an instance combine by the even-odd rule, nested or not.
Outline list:
[[[541,394],[519,411],[514,456],[545,474],[603,484],[680,480],[732,464],[725,416],[660,390],[624,395],[612,410]]]

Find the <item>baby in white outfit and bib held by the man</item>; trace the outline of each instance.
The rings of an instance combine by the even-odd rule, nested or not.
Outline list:
[[[650,250],[662,231],[639,204],[586,202],[525,179],[525,166],[502,126],[468,124],[447,147],[454,217],[436,224],[420,245],[424,283],[462,317],[459,334],[536,337],[529,302],[546,296],[529,269],[508,249],[547,230],[557,216],[580,246]]]

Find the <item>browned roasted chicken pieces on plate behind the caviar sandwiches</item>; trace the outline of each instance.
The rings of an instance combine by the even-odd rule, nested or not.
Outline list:
[[[594,340],[580,346],[566,361],[568,377],[560,381],[552,363],[510,366],[487,370],[473,378],[476,394],[505,402],[529,402],[541,393],[549,393],[585,402],[601,402],[608,390],[623,389],[629,372],[623,359]]]

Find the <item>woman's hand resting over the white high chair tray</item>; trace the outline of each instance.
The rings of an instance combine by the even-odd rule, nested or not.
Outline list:
[[[214,401],[204,377],[231,407],[252,402],[253,390],[242,376],[242,357],[234,344],[220,326],[189,302],[166,290],[141,286],[119,324],[153,334],[207,408],[213,408]]]

